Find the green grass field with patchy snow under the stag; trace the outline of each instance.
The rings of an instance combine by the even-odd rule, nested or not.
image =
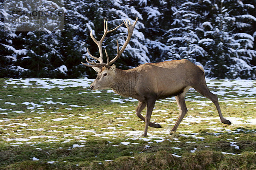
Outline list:
[[[256,81],[207,81],[223,116],[191,89],[176,133],[175,98],[156,102],[148,129],[137,101],[90,91],[90,79],[0,79],[0,169],[256,169]],[[145,114],[145,110],[143,111]]]

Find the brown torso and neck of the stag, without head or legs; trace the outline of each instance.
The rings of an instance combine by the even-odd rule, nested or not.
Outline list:
[[[149,95],[155,96],[156,99],[165,99],[177,96],[186,87],[192,86],[195,82],[191,77],[197,74],[200,77],[204,72],[185,59],[146,63],[129,70],[116,69],[116,76],[110,82],[110,88],[116,94],[132,97],[140,102],[145,102]]]

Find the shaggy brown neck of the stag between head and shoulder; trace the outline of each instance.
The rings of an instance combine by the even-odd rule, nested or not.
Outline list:
[[[136,72],[130,70],[116,69],[113,79],[112,90],[121,96],[136,98],[135,85],[137,82]]]

